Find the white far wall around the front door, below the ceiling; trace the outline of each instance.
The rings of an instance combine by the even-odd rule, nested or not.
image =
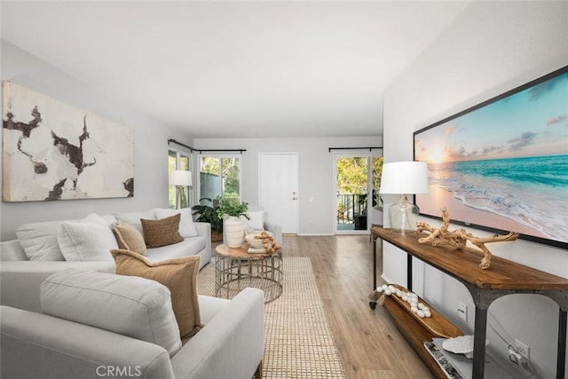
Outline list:
[[[377,125],[380,124],[377,120]],[[348,128],[348,126],[346,126]],[[334,233],[334,160],[329,147],[382,146],[379,136],[359,138],[195,138],[198,149],[246,149],[242,201],[258,204],[258,154],[298,153],[298,234]],[[366,153],[368,150],[366,151]],[[312,200],[312,201],[311,201]],[[313,225],[310,225],[312,221]]]

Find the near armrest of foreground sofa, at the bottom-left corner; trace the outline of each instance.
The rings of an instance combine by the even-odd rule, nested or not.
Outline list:
[[[154,343],[6,306],[0,323],[2,377],[174,377],[168,352]]]

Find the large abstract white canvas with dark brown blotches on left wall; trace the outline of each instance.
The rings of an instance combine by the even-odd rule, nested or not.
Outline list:
[[[133,129],[2,84],[4,201],[133,196]]]

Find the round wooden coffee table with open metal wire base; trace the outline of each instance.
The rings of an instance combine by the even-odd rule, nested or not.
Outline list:
[[[248,253],[249,245],[218,245],[215,261],[215,295],[233,298],[247,287],[264,291],[264,303],[282,295],[282,252]]]

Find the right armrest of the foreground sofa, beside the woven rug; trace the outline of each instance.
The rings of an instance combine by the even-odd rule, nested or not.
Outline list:
[[[245,288],[171,358],[177,379],[250,378],[264,355],[264,292]]]

